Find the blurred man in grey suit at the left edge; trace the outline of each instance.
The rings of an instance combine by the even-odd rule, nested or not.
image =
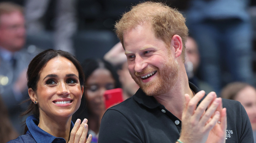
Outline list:
[[[11,2],[0,3],[0,94],[6,104],[11,123],[22,133],[18,105],[27,97],[27,66],[35,51],[24,48],[26,40],[23,8]]]

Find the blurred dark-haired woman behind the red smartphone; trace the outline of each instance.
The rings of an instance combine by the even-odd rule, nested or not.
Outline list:
[[[101,118],[106,111],[104,104],[104,92],[113,88],[120,88],[121,84],[115,68],[103,59],[86,59],[82,63],[85,75],[84,93],[86,100],[82,102],[73,116],[75,118],[87,118],[89,134],[93,135],[92,141],[97,142]],[[86,109],[84,109],[86,106]]]

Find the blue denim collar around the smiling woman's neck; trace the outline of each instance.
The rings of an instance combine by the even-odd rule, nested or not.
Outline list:
[[[49,133],[45,132],[41,128],[39,128],[37,126],[39,124],[39,120],[38,120],[38,118],[36,118],[36,115],[29,116],[26,119],[26,124],[29,129],[27,131],[27,133],[30,133],[37,143],[45,143],[45,142],[52,143],[53,141],[55,142],[55,140],[56,140],[56,142],[65,141],[64,138],[55,137],[55,136],[50,135]],[[74,123],[71,121],[70,131],[73,129],[73,127],[74,127]]]

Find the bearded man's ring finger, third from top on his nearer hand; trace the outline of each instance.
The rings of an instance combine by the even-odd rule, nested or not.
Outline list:
[[[219,114],[219,117],[220,117],[220,112],[219,111],[216,111],[217,107],[219,106],[219,104],[221,103],[221,99],[219,98],[216,98],[211,106],[205,111],[205,113],[203,114],[203,117],[201,118],[200,120],[200,123],[202,125],[205,125],[205,123],[211,118],[211,117],[214,117],[215,116],[215,113],[218,113]],[[216,112],[215,112],[216,111]],[[216,116],[215,116],[216,117]],[[218,121],[219,119],[217,119]]]

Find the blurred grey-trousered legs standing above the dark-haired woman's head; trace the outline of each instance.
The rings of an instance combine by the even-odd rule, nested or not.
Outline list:
[[[76,2],[77,0],[54,0],[53,22],[45,22],[44,15],[53,0],[26,0],[25,15],[28,34],[40,35],[46,31],[45,23],[53,23],[54,49],[75,54],[72,36],[77,29]]]

